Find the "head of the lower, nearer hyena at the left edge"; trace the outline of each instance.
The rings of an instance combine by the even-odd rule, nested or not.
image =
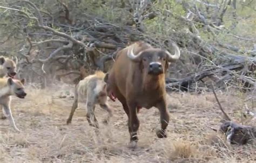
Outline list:
[[[12,79],[9,78],[8,81],[8,86],[10,87],[11,95],[15,95],[18,98],[25,98],[26,92],[24,91],[24,83],[25,80],[17,80],[17,79]]]

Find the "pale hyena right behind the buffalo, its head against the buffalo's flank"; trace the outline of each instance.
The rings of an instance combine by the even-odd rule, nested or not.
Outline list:
[[[83,70],[80,69],[80,73],[82,74]],[[105,77],[104,72],[96,71],[94,74],[90,74],[84,79],[83,77],[80,78],[81,80],[75,86],[75,99],[73,101],[69,118],[66,121],[67,124],[71,123],[73,114],[76,111],[76,108],[78,107],[78,98],[82,100],[86,99],[86,108],[87,108],[86,119],[90,126],[99,128],[98,121],[94,114],[96,104],[99,104],[101,108],[103,108],[108,112],[107,118],[104,120],[104,122],[107,123],[110,120],[110,118],[113,115],[112,115],[112,110],[107,104],[106,83],[103,80],[104,77]],[[93,120],[95,124],[93,124],[91,120]]]

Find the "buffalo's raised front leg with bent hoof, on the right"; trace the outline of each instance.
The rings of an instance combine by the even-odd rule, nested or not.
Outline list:
[[[160,112],[160,123],[161,123],[161,128],[160,130],[157,130],[157,137],[158,138],[166,138],[166,128],[169,124],[169,113],[167,112],[167,107],[166,107],[166,101],[164,99],[160,100],[159,103],[156,105]]]

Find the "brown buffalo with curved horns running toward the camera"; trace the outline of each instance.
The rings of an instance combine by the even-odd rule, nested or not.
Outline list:
[[[160,112],[161,128],[157,130],[158,138],[166,138],[169,124],[169,112],[166,107],[165,72],[169,63],[176,62],[180,50],[176,44],[174,55],[167,50],[154,48],[143,41],[135,42],[117,52],[116,60],[107,72],[107,94],[122,103],[128,116],[130,145],[136,147],[139,109],[157,107]]]

